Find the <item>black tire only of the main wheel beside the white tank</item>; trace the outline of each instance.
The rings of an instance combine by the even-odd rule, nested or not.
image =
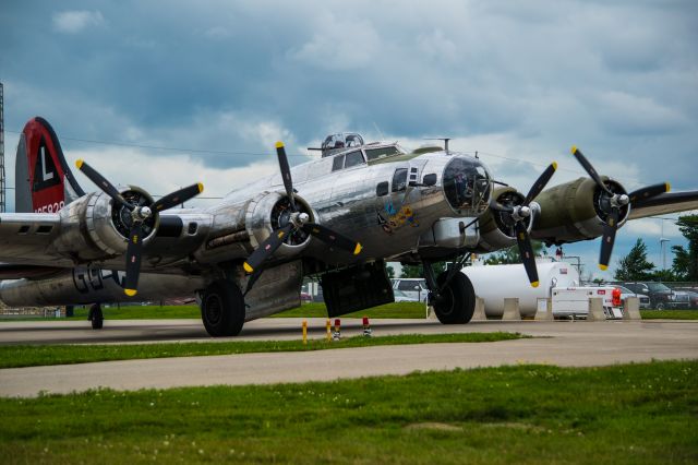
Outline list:
[[[442,273],[436,278],[441,286],[447,276]],[[434,301],[434,312],[443,324],[465,324],[470,321],[476,310],[476,291],[472,283],[465,274],[458,272],[448,286],[441,293],[441,297]]]

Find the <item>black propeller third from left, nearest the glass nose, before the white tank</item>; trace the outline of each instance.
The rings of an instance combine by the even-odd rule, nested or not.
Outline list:
[[[535,269],[535,254],[533,253],[533,246],[531,245],[531,238],[526,227],[526,219],[531,216],[530,203],[545,189],[545,186],[555,174],[557,169],[557,163],[553,162],[538,177],[528,194],[524,199],[520,205],[502,205],[496,200],[490,201],[490,208],[502,212],[508,216],[508,223],[514,224],[514,230],[516,233],[516,243],[519,247],[519,253],[521,254],[521,261],[524,262],[524,269],[528,275],[528,279],[532,287],[538,287],[538,270]]]

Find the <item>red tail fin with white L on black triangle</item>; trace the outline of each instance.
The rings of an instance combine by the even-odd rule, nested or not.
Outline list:
[[[44,118],[33,118],[24,127],[14,169],[17,213],[56,213],[85,194],[65,163],[53,128]]]

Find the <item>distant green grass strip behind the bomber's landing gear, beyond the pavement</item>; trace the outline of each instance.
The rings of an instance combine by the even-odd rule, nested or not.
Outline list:
[[[166,320],[166,319],[201,319],[198,306],[121,306],[103,307],[103,313],[107,320]],[[72,321],[86,320],[88,308],[76,307],[72,318],[2,318],[2,321]],[[425,318],[424,303],[420,302],[394,302],[385,306],[361,310],[354,313],[345,314],[341,318]],[[327,317],[325,303],[310,302],[301,307],[276,313],[272,317]]]

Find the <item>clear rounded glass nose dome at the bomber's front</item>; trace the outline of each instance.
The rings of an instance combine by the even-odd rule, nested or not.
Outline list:
[[[478,216],[488,208],[492,179],[480,160],[455,157],[446,165],[443,179],[446,200],[457,213]]]

